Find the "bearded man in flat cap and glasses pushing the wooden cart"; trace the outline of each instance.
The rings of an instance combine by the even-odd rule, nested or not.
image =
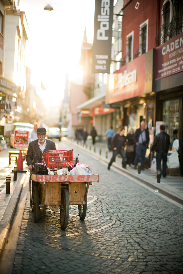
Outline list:
[[[37,139],[29,143],[27,150],[26,161],[28,168],[31,169],[33,157],[34,163],[42,162],[41,154],[47,150],[56,150],[55,143],[51,140],[46,140],[46,129],[37,128]],[[34,166],[33,166],[34,167]]]

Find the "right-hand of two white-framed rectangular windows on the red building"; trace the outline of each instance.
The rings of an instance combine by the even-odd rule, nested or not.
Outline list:
[[[148,19],[140,25],[139,30],[139,53],[140,55],[148,51]]]

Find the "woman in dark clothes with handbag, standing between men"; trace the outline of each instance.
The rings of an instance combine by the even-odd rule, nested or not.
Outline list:
[[[126,136],[126,139],[128,140],[127,146],[126,146],[126,163],[129,164],[129,166],[133,166],[134,159],[135,159],[135,143],[134,143],[134,130],[133,128],[130,128],[129,133]]]

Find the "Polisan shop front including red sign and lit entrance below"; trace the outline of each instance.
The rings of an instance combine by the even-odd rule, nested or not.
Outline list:
[[[156,94],[152,86],[154,53],[154,49],[151,49],[109,75],[106,103],[120,104],[122,126],[125,127],[126,132],[129,128],[134,130],[139,128],[142,120],[149,129],[154,126],[156,111]]]

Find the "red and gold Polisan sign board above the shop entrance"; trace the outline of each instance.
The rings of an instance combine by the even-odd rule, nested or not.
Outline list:
[[[108,76],[106,103],[152,92],[153,54],[151,49]]]

